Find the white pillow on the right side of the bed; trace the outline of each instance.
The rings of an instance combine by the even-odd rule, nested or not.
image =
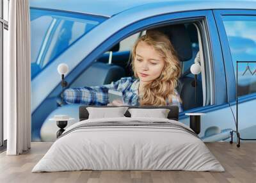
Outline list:
[[[150,117],[150,118],[167,118],[170,109],[128,109],[131,113],[131,118],[136,117]]]

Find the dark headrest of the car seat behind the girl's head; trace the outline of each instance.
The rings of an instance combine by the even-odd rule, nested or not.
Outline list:
[[[150,29],[150,31],[159,31],[167,35],[172,42],[180,61],[188,61],[192,58],[192,47],[188,30],[184,24],[164,26],[161,28]]]

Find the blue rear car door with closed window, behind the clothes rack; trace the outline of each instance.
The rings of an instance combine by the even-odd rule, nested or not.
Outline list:
[[[236,122],[238,122],[241,138],[255,139],[256,11],[216,10],[214,16],[221,36],[221,47],[228,78],[228,103],[232,107]]]

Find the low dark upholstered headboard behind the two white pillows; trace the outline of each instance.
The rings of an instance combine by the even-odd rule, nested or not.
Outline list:
[[[89,117],[89,113],[86,109],[86,107],[116,107],[116,106],[80,106],[79,107],[79,121],[87,120]],[[141,109],[170,109],[170,112],[168,113],[168,119],[170,120],[179,120],[179,107],[178,106],[127,106],[129,109],[131,108],[141,108]],[[129,111],[126,111],[124,114],[126,117],[131,117],[131,114]]]

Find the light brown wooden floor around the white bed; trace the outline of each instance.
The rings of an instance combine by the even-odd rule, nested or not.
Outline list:
[[[256,143],[206,143],[225,172],[195,171],[64,171],[31,173],[52,143],[32,143],[22,155],[0,154],[0,182],[256,182]]]

